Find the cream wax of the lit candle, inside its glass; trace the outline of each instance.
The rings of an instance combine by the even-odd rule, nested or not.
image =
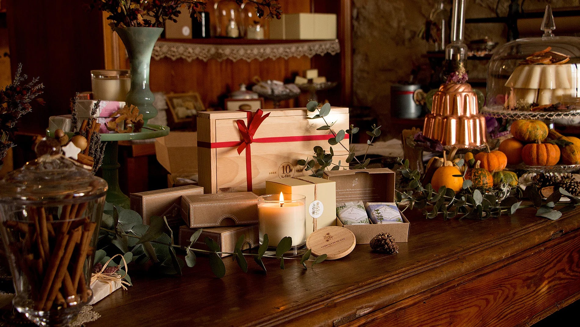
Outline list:
[[[292,238],[292,246],[302,245],[306,238],[305,208],[302,202],[258,204],[260,236],[268,234],[268,244],[278,246],[284,237]]]

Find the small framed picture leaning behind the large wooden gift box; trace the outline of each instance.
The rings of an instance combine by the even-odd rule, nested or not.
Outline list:
[[[184,126],[195,123],[198,111],[205,111],[200,93],[171,93],[165,95],[167,107],[171,114],[167,115],[169,127]]]

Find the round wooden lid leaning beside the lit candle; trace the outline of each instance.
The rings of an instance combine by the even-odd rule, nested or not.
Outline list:
[[[320,228],[306,239],[306,248],[309,248],[315,256],[326,253],[327,260],[348,255],[356,244],[353,232],[339,226]]]

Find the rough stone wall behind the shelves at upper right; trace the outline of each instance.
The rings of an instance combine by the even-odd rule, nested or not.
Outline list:
[[[388,129],[390,86],[408,82],[412,70],[420,70],[419,83],[427,83],[427,43],[418,37],[435,0],[353,0],[354,105],[372,108],[372,114]],[[466,17],[494,17],[496,0],[467,0]],[[509,0],[501,0],[498,12],[505,16]],[[520,1],[521,3],[521,1]],[[524,11],[578,6],[579,0],[525,0]],[[451,0],[449,0],[449,10]],[[490,37],[505,43],[505,24],[466,24],[465,41]],[[501,45],[501,44],[500,44]],[[470,60],[470,78],[484,79],[487,61]],[[386,130],[388,132],[388,130]]]

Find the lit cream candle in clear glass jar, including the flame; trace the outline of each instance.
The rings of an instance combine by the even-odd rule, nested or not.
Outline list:
[[[258,198],[260,244],[268,234],[269,253],[284,237],[292,238],[290,254],[297,255],[306,244],[306,197],[301,194],[268,194]]]

